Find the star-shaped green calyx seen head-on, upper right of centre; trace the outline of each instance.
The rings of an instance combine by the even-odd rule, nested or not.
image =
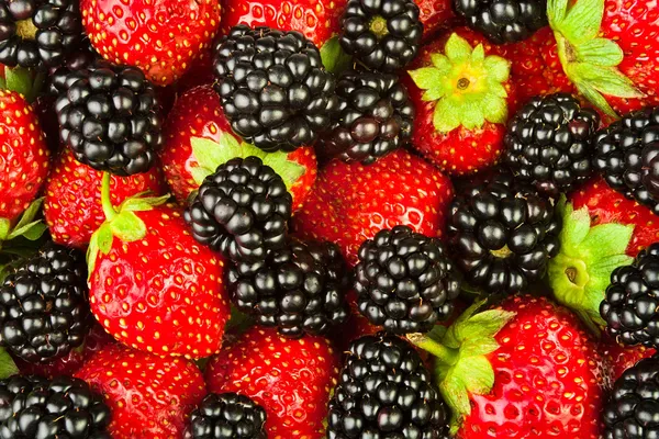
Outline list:
[[[444,54],[432,56],[433,65],[409,71],[416,86],[425,90],[424,101],[436,101],[433,124],[440,133],[463,126],[476,130],[485,121],[503,124],[507,120],[507,92],[503,86],[511,65],[499,56],[485,56],[481,44],[453,34]]]

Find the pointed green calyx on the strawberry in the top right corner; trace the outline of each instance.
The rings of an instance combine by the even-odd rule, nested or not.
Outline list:
[[[616,117],[604,95],[643,98],[617,66],[623,50],[614,41],[599,37],[605,0],[549,0],[547,15],[568,78],[581,94],[604,113]]]

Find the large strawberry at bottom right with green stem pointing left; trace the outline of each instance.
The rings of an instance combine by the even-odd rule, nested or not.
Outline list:
[[[606,378],[596,344],[567,309],[513,296],[448,329],[407,336],[437,357],[457,439],[599,439]]]

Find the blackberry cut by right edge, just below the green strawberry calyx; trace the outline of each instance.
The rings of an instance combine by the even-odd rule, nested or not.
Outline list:
[[[606,330],[625,345],[659,348],[659,243],[615,269],[600,305]]]

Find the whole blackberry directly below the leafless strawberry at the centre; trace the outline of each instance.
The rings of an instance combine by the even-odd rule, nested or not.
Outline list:
[[[364,241],[355,273],[359,312],[392,334],[433,329],[451,315],[460,292],[439,239],[407,226],[380,230]]]

